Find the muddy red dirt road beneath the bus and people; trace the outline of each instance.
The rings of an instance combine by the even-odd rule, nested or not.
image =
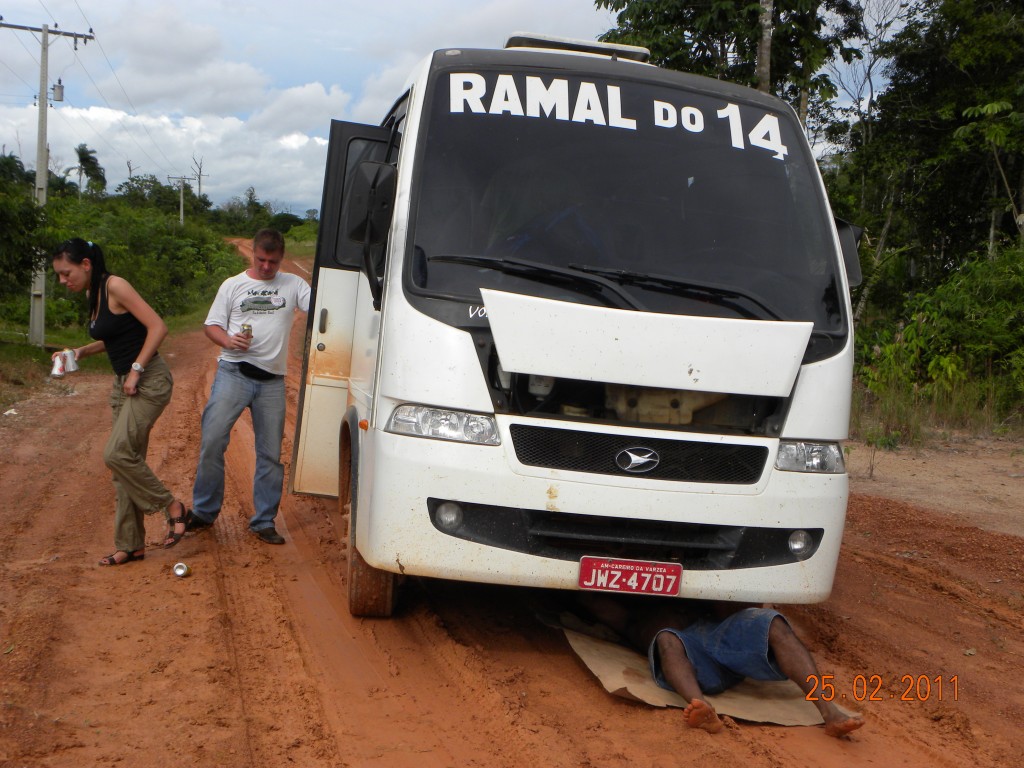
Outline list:
[[[151,463],[186,500],[215,353],[198,330],[163,350],[175,393]],[[395,618],[349,616],[333,503],[286,495],[284,547],[248,532],[246,423],[212,530],[97,567],[112,549],[110,382],[75,374],[0,417],[3,768],[1024,763],[1019,443],[879,456],[872,479],[854,446],[833,596],[783,610],[866,724],[843,740],[756,724],[712,736],[606,694],[535,617],[543,592],[411,580]],[[162,539],[159,516],[148,525]],[[179,560],[190,578],[172,574]]]

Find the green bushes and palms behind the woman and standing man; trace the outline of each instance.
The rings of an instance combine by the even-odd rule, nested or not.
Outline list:
[[[132,176],[109,195],[96,153],[80,144],[76,154],[78,166],[48,174],[45,208],[34,199],[35,171],[16,156],[0,156],[0,330],[27,328],[33,270],[49,270],[50,255],[68,238],[100,244],[108,267],[127,278],[158,312],[173,316],[206,304],[220,282],[241,268],[225,234],[249,237],[271,223],[285,229],[303,221],[273,211],[252,188],[245,204],[224,209],[212,209],[187,184],[169,186],[152,175]],[[69,183],[78,173],[82,183]],[[84,322],[85,301],[52,274],[46,296],[47,329]]]

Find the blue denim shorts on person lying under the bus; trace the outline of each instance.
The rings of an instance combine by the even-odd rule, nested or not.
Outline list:
[[[743,678],[785,680],[768,647],[768,628],[775,616],[785,621],[785,616],[771,608],[744,608],[721,622],[701,618],[685,630],[659,630],[647,649],[650,674],[658,686],[673,690],[662,672],[657,653],[657,636],[671,632],[686,648],[686,656],[705,693],[721,693]]]

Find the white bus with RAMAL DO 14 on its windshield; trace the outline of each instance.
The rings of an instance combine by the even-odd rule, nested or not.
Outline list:
[[[815,602],[859,281],[799,121],[641,48],[444,49],[334,122],[291,489],[403,575]]]

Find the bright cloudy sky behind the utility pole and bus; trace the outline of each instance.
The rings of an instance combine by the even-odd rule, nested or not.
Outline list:
[[[95,150],[108,188],[195,176],[214,205],[252,186],[276,210],[318,208],[332,119],[378,123],[436,48],[501,47],[514,32],[594,39],[592,0],[4,0],[3,24],[50,37],[50,168]],[[36,166],[40,36],[0,29],[0,148]],[[77,181],[77,174],[71,178]],[[194,188],[196,184],[194,182]]]

